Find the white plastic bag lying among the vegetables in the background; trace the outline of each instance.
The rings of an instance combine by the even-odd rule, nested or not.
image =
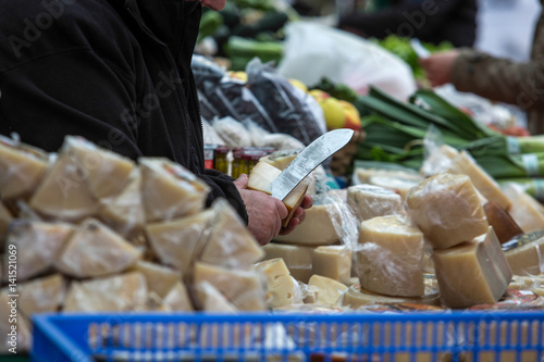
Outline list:
[[[411,68],[400,58],[359,36],[312,22],[287,25],[277,72],[310,86],[327,77],[359,95],[373,85],[399,100],[417,89]]]

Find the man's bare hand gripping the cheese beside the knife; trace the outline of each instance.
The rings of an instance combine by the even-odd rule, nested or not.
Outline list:
[[[313,204],[309,196],[305,196],[301,207],[295,210],[287,227],[282,227],[282,220],[287,217],[287,208],[283,202],[261,191],[247,189],[247,175],[240,175],[234,185],[238,189],[248,214],[248,229],[260,245],[267,245],[277,235],[285,235],[305,220],[305,209]]]

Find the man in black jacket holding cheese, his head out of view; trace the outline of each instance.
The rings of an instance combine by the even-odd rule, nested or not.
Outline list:
[[[201,3],[202,2],[202,3]],[[47,151],[79,135],[132,159],[165,157],[224,197],[261,244],[287,228],[285,205],[203,168],[190,60],[201,8],[225,0],[0,0],[0,134]],[[305,200],[311,207],[311,198]]]

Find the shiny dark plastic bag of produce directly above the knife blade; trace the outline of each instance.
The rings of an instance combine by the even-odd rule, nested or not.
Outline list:
[[[308,146],[326,132],[324,120],[313,107],[316,100],[279,75],[272,65],[256,58],[246,72],[247,86],[272,118],[271,133],[292,135]]]

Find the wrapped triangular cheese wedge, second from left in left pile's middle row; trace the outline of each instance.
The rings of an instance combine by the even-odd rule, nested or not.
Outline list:
[[[126,271],[141,251],[95,219],[85,220],[66,241],[55,267],[63,274],[88,278]]]

